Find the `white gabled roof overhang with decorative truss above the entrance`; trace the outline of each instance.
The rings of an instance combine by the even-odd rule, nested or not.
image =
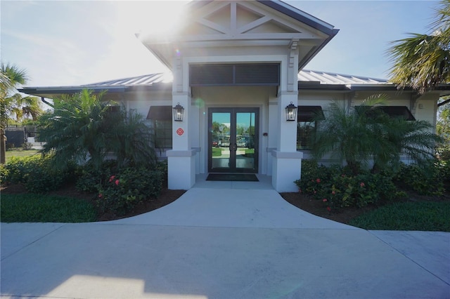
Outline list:
[[[231,6],[226,11],[226,6]],[[234,6],[233,6],[234,5]],[[238,7],[238,8],[236,8]],[[227,8],[228,9],[228,8]],[[238,24],[236,10],[252,10],[256,20],[248,24]],[[215,10],[215,11],[214,11]],[[221,22],[214,22],[211,15],[229,13],[231,27]],[[234,13],[234,15],[233,15]],[[266,15],[264,15],[266,13]],[[261,47],[285,46],[288,48],[293,41],[298,41],[298,69],[302,69],[321,49],[339,32],[328,24],[308,13],[285,4],[282,1],[191,1],[186,4],[189,19],[179,26],[179,32],[172,34],[136,34],[142,44],[155,55],[162,64],[172,70],[172,60],[175,55],[186,51],[199,53],[198,49],[231,48],[231,47]],[[258,19],[259,18],[259,19]],[[220,19],[220,18],[218,18]],[[280,25],[286,31],[264,32],[264,26]],[[195,29],[192,29],[194,28]],[[201,28],[201,29],[198,29]],[[205,29],[206,28],[206,29]],[[273,29],[273,28],[272,28]],[[203,31],[202,31],[203,30]],[[213,51],[214,52],[214,51]]]

